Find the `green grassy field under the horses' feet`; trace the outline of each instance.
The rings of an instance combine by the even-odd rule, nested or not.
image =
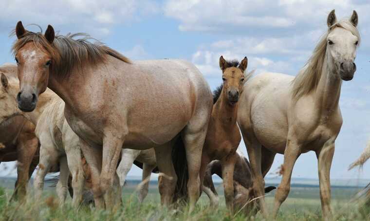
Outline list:
[[[116,208],[112,212],[96,210],[92,206],[81,206],[79,209],[71,207],[71,199],[68,197],[67,203],[63,207],[57,204],[55,190],[46,188],[44,199],[34,202],[29,197],[26,203],[9,203],[12,189],[9,182],[0,185],[0,221],[2,220],[56,220],[56,221],[100,221],[100,220],[129,220],[129,221],[159,221],[159,220],[262,220],[260,214],[256,216],[245,216],[236,214],[230,216],[225,208],[222,197],[222,187],[219,186],[220,206],[218,209],[208,207],[208,198],[202,195],[197,204],[197,209],[192,214],[187,214],[186,209],[175,210],[166,209],[160,206],[160,196],[157,186],[152,184],[149,194],[143,204],[137,202],[134,184],[128,184],[123,191],[123,206]],[[360,190],[356,187],[333,187],[332,188],[332,207],[334,220],[370,220],[366,211],[353,203],[354,195]],[[31,190],[32,192],[32,190]],[[275,191],[266,197],[269,209],[272,208]],[[296,220],[310,221],[321,218],[321,206],[319,200],[318,187],[292,187],[288,199],[283,203],[277,220]]]

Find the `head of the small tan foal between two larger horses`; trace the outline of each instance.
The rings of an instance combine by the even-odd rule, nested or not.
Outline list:
[[[222,70],[222,90],[230,105],[235,105],[239,100],[239,95],[243,92],[245,83],[244,71],[247,69],[248,59],[238,61],[226,61],[220,57],[220,68]]]

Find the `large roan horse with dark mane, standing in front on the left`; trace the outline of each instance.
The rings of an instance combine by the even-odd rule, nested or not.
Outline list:
[[[113,206],[105,193],[118,180],[122,148],[154,147],[158,168],[166,175],[159,179],[161,203],[172,203],[177,177],[171,148],[181,135],[189,168],[189,211],[194,209],[212,109],[210,88],[194,65],[166,59],[132,63],[100,42],[55,36],[50,25],[43,35],[18,22],[15,33],[19,109],[33,111],[47,86],[64,100],[65,117],[84,143],[97,207]]]

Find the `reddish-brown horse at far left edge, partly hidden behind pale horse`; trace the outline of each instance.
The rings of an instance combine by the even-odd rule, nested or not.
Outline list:
[[[12,67],[3,65],[0,73],[8,72]],[[1,83],[6,84],[5,79],[1,78]],[[7,89],[1,87],[1,92]],[[0,95],[0,103],[5,99]],[[5,111],[6,106],[1,106]],[[18,161],[17,181],[12,200],[19,198],[23,200],[26,195],[28,180],[38,164],[39,143],[35,135],[35,125],[22,116],[0,117],[0,162]]]

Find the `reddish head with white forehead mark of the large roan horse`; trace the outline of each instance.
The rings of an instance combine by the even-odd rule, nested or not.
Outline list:
[[[16,26],[18,40],[13,46],[18,65],[19,93],[18,107],[30,112],[36,108],[38,95],[46,90],[49,72],[58,59],[52,46],[55,33],[51,25],[45,34],[33,33],[24,29],[22,22]]]

